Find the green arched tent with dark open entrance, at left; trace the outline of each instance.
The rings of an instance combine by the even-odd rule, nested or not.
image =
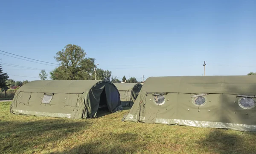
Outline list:
[[[95,118],[99,107],[122,110],[110,81],[45,80],[29,82],[15,93],[11,113],[72,119]]]

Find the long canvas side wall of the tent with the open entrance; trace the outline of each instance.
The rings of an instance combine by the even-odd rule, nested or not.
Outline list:
[[[44,93],[17,92],[12,101],[14,114],[62,118],[86,118],[81,94],[54,93],[49,103],[42,103]]]

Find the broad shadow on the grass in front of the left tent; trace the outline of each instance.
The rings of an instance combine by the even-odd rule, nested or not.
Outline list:
[[[0,121],[0,151],[3,153],[33,152],[37,147],[54,146],[74,132],[86,130],[91,126],[87,120],[44,119],[29,122]],[[49,147],[48,147],[49,148]],[[1,153],[1,152],[0,152]]]

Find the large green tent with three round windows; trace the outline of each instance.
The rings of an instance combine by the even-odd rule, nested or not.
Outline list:
[[[125,121],[256,131],[256,76],[148,78]]]

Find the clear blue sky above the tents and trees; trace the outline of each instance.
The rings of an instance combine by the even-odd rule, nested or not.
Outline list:
[[[56,63],[53,56],[67,44],[120,78],[202,76],[204,61],[206,75],[246,75],[256,72],[256,1],[0,1],[0,50]],[[55,68],[0,59],[14,80],[38,80],[20,76]]]

